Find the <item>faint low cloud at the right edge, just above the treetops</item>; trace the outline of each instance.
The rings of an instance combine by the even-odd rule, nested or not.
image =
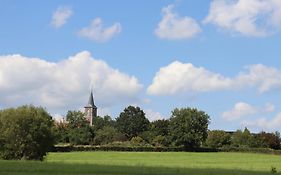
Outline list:
[[[281,113],[277,114],[274,118],[268,120],[266,118],[260,118],[255,121],[243,121],[241,125],[247,127],[259,128],[264,131],[274,131],[281,129]]]

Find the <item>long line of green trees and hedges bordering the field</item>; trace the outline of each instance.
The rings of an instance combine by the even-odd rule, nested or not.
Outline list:
[[[126,107],[116,119],[94,117],[90,126],[80,111],[55,122],[42,107],[0,110],[0,158],[42,160],[54,145],[122,147],[271,148],[280,149],[280,134],[208,130],[210,116],[196,108],[176,108],[168,119],[150,122],[140,107]]]

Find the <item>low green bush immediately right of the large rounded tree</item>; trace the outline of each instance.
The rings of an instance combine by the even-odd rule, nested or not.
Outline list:
[[[211,148],[221,148],[231,144],[230,134],[222,130],[213,130],[208,132],[206,145]]]

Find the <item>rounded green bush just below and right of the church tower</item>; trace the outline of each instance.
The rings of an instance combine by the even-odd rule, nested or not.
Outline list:
[[[116,128],[105,126],[102,129],[99,129],[94,138],[95,145],[104,145],[109,144],[114,141],[124,141],[125,136],[120,133]]]

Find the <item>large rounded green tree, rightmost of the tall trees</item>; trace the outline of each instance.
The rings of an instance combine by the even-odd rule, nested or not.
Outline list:
[[[209,116],[195,108],[172,111],[169,131],[175,145],[186,149],[199,147],[208,136]]]

